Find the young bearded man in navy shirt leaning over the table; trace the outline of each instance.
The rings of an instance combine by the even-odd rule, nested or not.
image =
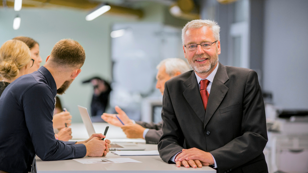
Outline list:
[[[110,141],[102,140],[102,134],[80,142],[54,136],[55,96],[65,92],[84,61],[84,49],[77,41],[60,40],[44,66],[5,89],[0,98],[0,173],[30,171],[35,154],[44,161],[107,154]]]

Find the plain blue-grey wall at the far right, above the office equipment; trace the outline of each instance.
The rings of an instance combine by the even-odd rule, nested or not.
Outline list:
[[[308,1],[266,0],[264,87],[282,108],[308,108]]]

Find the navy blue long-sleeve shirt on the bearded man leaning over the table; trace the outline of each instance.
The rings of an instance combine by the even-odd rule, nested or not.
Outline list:
[[[43,66],[19,77],[3,91],[0,97],[0,170],[28,172],[35,154],[44,161],[86,155],[85,145],[55,139],[52,118],[56,94],[55,80]]]

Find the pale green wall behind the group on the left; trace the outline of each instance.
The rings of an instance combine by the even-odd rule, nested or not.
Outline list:
[[[21,17],[21,26],[13,30],[13,19]],[[67,92],[60,96],[62,104],[71,112],[73,122],[82,122],[77,105],[90,108],[92,87],[81,81],[99,75],[111,80],[110,29],[114,22],[136,21],[134,18],[102,15],[86,21],[86,11],[71,9],[27,9],[15,12],[12,8],[0,9],[0,45],[16,36],[32,37],[40,44],[44,64],[55,43],[63,38],[79,41],[86,52],[82,72]],[[34,105],[35,106],[35,105]]]

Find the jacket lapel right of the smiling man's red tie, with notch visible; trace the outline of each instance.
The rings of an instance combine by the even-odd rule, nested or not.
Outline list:
[[[229,89],[228,87],[224,85],[225,82],[229,80],[226,68],[220,62],[218,63],[219,63],[219,66],[215,74],[213,83],[212,83],[208,104],[206,106],[206,112],[205,112],[205,118],[204,118],[204,128],[206,124],[208,124],[209,120],[212,118],[214,112],[220,105],[221,101],[224,99]]]

